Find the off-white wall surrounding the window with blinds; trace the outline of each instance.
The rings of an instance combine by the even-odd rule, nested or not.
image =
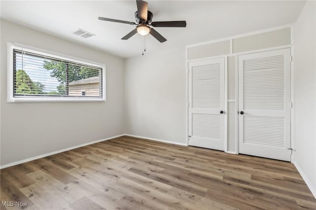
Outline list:
[[[1,162],[9,164],[124,133],[123,59],[1,20]],[[107,102],[6,103],[6,44],[106,64]]]

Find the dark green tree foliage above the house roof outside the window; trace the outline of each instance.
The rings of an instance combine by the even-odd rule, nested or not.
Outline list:
[[[61,84],[66,84],[66,67],[68,66],[69,82],[86,79],[93,76],[99,76],[99,72],[86,67],[80,67],[74,64],[66,64],[59,61],[44,61],[43,67],[51,70],[50,76],[57,78]],[[60,92],[58,90],[58,92]]]

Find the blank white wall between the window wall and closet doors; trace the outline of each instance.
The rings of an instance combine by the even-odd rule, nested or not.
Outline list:
[[[125,133],[186,143],[185,48],[125,61]]]

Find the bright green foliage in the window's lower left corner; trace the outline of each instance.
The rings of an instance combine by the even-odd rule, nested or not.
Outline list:
[[[40,82],[33,82],[24,70],[17,70],[15,78],[17,94],[43,94],[45,86]]]

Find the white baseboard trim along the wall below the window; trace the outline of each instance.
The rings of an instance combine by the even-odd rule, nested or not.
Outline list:
[[[38,155],[38,156],[35,156],[35,157],[27,158],[27,159],[24,159],[24,160],[19,160],[19,161],[13,162],[13,163],[8,163],[8,164],[5,164],[3,166],[0,166],[0,169],[4,169],[4,168],[10,167],[10,166],[15,166],[15,165],[18,165],[18,164],[21,164],[21,163],[29,162],[29,161],[36,160],[36,159],[39,159],[39,158],[43,158],[43,157],[46,157],[46,156],[49,156],[49,155],[54,155],[54,154],[57,154],[57,153],[60,153],[60,152],[65,152],[65,151],[68,151],[68,150],[76,149],[76,148],[79,148],[79,147],[82,147],[82,146],[86,146],[86,145],[89,145],[89,144],[98,143],[98,142],[105,141],[105,140],[115,139],[115,138],[122,137],[122,136],[124,136],[124,134],[121,134],[121,135],[118,135],[118,136],[114,136],[114,137],[109,137],[109,138],[102,139],[102,140],[95,140],[95,141],[91,141],[91,142],[88,142],[88,143],[82,143],[82,144],[79,144],[77,146],[68,147],[66,149],[61,149],[61,150],[58,150],[58,151],[49,152],[49,153],[46,153],[46,154],[42,154],[42,155]]]

